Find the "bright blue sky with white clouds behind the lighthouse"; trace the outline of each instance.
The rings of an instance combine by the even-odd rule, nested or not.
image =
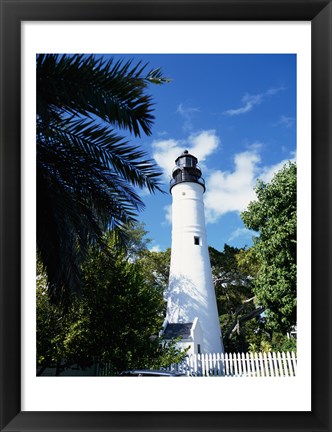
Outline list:
[[[118,56],[116,56],[118,58]],[[209,245],[244,247],[254,233],[240,213],[255,199],[257,178],[270,181],[296,158],[296,55],[135,54],[120,56],[161,67],[169,84],[152,85],[152,136],[138,143],[164,172],[168,191],[174,160],[188,149],[206,182]],[[171,195],[141,194],[139,215],[153,250],[171,246]]]

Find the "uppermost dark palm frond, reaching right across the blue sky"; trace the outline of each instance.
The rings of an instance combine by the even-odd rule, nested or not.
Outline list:
[[[145,94],[149,82],[164,83],[160,70],[145,72],[147,65],[108,62],[95,56],[37,57],[37,112],[45,105],[53,112],[95,115],[135,136],[151,134],[152,100]],[[57,97],[54,97],[57,95]]]

